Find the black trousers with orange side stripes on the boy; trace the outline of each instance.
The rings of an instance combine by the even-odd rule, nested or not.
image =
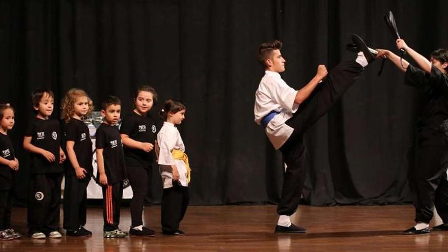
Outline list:
[[[120,206],[123,198],[123,182],[103,185],[104,231],[114,231],[120,224]]]

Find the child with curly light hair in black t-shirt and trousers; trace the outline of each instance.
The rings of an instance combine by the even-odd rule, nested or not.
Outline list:
[[[89,128],[82,119],[93,110],[87,93],[71,89],[62,102],[62,119],[65,121],[66,152],[64,186],[64,228],[68,236],[91,236],[86,230],[87,186],[93,173],[92,141]]]

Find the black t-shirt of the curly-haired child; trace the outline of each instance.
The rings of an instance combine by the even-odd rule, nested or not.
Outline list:
[[[70,121],[65,125],[65,139],[66,141],[73,141],[75,145],[73,150],[76,154],[76,159],[78,160],[79,166],[86,169],[91,176],[93,173],[92,166],[92,140],[90,139],[89,127],[77,119],[70,119]],[[76,176],[73,165],[70,162],[68,156],[65,161],[65,176]]]

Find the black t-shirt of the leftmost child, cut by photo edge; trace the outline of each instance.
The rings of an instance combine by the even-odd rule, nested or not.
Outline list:
[[[14,160],[14,147],[8,135],[0,133],[0,156]],[[15,171],[8,165],[0,164],[0,190],[9,190],[14,182]]]

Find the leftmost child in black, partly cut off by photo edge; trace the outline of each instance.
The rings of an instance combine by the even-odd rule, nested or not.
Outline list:
[[[19,170],[19,160],[14,156],[14,148],[8,130],[14,126],[14,109],[0,105],[0,240],[12,240],[22,235],[11,228],[14,176]]]

